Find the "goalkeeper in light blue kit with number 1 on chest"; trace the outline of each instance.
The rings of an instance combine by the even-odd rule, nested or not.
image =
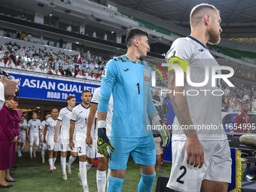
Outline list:
[[[121,190],[126,163],[131,153],[142,172],[138,191],[151,191],[156,163],[156,149],[148,116],[160,125],[157,110],[151,98],[151,68],[139,60],[147,56],[148,32],[130,29],[126,35],[126,55],[111,59],[102,73],[98,105],[98,151],[110,157],[111,169],[108,192]],[[114,112],[111,124],[111,142],[105,135],[108,101],[113,94]],[[160,130],[163,145],[169,144],[169,131]],[[110,149],[109,155],[107,146]]]

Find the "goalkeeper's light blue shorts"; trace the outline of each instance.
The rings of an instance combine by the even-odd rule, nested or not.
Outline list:
[[[108,167],[113,170],[126,169],[129,154],[136,164],[152,166],[156,163],[156,146],[152,135],[140,138],[111,137],[114,151],[110,151]]]

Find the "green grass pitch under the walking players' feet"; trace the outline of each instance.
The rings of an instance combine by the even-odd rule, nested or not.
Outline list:
[[[78,157],[74,163],[72,163],[72,175],[68,175],[67,181],[62,181],[62,169],[60,166],[60,153],[55,163],[56,170],[54,172],[49,171],[49,163],[47,158],[45,163],[41,164],[41,152],[36,152],[37,157],[33,160],[29,159],[29,152],[23,153],[23,156],[16,158],[16,163],[14,166],[17,166],[17,170],[11,169],[11,172],[14,173],[13,178],[16,178],[17,181],[11,184],[14,184],[13,187],[9,189],[2,189],[1,191],[11,191],[11,192],[30,192],[30,191],[40,191],[40,192],[56,192],[56,191],[67,191],[67,192],[76,192],[83,191],[83,187],[80,186],[78,181],[78,169],[79,161]],[[69,155],[67,161],[69,160]],[[47,157],[47,152],[45,152],[45,157]],[[157,177],[160,175],[169,175],[171,172],[171,163],[165,162],[167,167],[166,172],[157,173],[157,176],[154,180],[153,190],[155,191],[157,185]],[[87,181],[90,192],[97,192],[96,184],[96,170],[97,168],[92,166],[87,172]],[[157,166],[155,166],[157,171]],[[135,192],[138,191],[137,187],[139,180],[141,178],[139,166],[133,162],[133,158],[130,157],[127,163],[126,177],[123,181],[122,192]]]

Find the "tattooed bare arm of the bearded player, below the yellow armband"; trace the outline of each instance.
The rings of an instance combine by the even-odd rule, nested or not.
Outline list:
[[[175,111],[175,115],[178,119],[178,123],[180,125],[187,125],[188,129],[184,129],[183,132],[185,136],[187,136],[186,142],[186,152],[187,152],[187,164],[194,167],[199,166],[201,168],[204,163],[204,153],[203,147],[200,144],[200,141],[197,137],[197,132],[194,128],[193,122],[191,120],[189,109],[187,105],[187,98],[185,94],[180,94],[184,92],[184,87],[176,87],[175,86],[175,71],[169,71],[169,90],[172,93],[169,94],[170,100],[172,102],[173,110]],[[184,72],[184,84],[186,84],[186,73]],[[174,95],[174,92],[179,92]],[[189,127],[190,126],[190,127]]]

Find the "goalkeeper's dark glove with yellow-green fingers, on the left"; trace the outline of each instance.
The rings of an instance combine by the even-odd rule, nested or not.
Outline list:
[[[103,122],[98,122],[98,126],[103,123]],[[104,122],[105,123],[105,122]],[[100,126],[99,126],[100,127]],[[106,135],[106,130],[105,127],[103,128],[98,128],[98,141],[97,141],[97,148],[100,154],[103,154],[105,157],[109,158],[108,154],[108,148],[111,151],[114,151],[114,147],[109,141],[107,135]]]

